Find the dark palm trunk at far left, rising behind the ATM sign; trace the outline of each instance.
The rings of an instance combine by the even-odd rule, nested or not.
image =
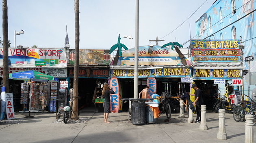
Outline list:
[[[3,6],[3,86],[5,86],[5,92],[9,93],[9,66],[8,66],[8,14],[7,14],[7,0],[2,1]]]

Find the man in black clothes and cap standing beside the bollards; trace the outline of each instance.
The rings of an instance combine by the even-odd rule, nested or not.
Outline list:
[[[196,86],[196,84],[192,84],[191,87],[195,89],[195,101],[193,102],[193,105],[196,107],[196,123],[199,123],[201,122],[201,105],[203,104],[202,92]],[[199,117],[200,117],[200,120],[199,120]]]

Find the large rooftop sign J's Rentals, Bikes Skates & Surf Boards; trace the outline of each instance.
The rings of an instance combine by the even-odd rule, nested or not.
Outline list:
[[[240,40],[191,40],[193,62],[240,62]]]

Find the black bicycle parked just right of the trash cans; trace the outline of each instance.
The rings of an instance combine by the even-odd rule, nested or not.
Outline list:
[[[162,103],[162,106],[159,108],[160,111],[161,111],[159,116],[161,114],[165,114],[167,119],[169,120],[169,119],[171,119],[171,105],[169,104],[169,101],[166,100],[165,96],[166,96],[165,92],[162,92],[162,94],[161,94],[161,101],[160,101],[160,104]]]

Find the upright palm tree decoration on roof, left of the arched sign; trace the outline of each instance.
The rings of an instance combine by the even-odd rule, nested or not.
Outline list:
[[[119,59],[119,55],[122,57],[122,48],[124,48],[125,50],[128,50],[128,48],[124,44],[122,44],[120,42],[120,40],[121,40],[121,38],[120,38],[120,34],[119,34],[118,40],[117,40],[117,44],[113,45],[110,48],[109,54],[111,54],[116,48],[118,48],[117,54],[115,55],[115,58],[113,60],[113,65],[117,65],[117,62],[118,62],[118,59]]]

